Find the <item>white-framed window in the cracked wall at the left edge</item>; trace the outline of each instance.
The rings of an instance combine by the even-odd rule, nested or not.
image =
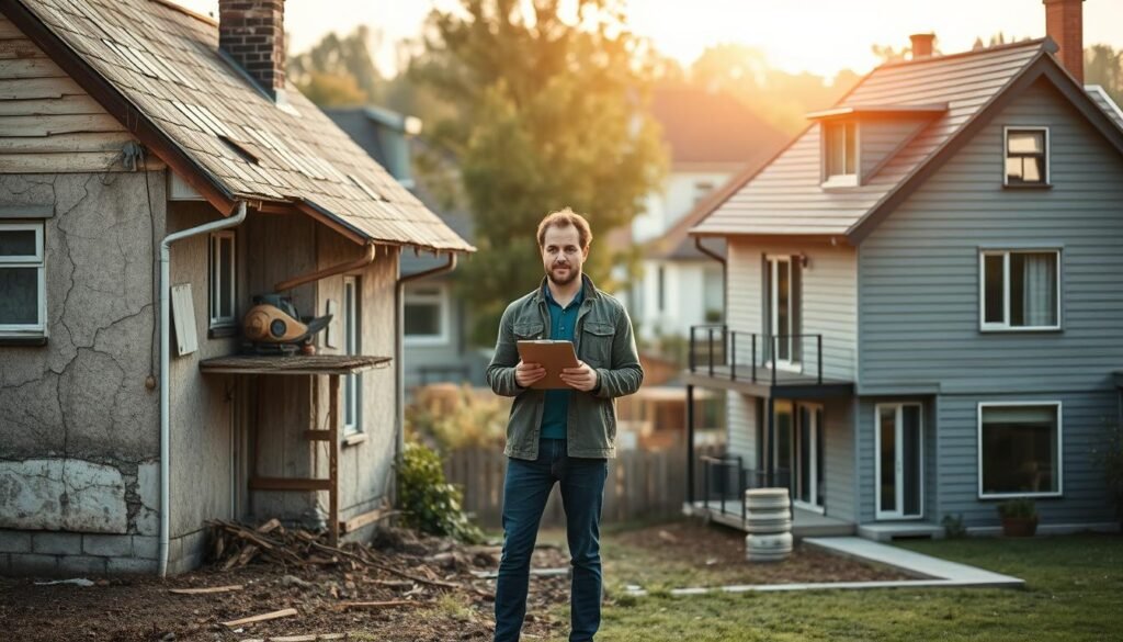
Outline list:
[[[46,318],[43,224],[0,224],[0,335],[42,335]]]

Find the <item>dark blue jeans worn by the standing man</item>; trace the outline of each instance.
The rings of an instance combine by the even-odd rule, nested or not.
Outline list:
[[[538,459],[508,459],[503,485],[503,557],[495,588],[495,642],[515,642],[527,615],[530,554],[554,482],[562,487],[573,580],[570,642],[601,626],[601,506],[609,462],[566,455],[565,440],[541,440]]]

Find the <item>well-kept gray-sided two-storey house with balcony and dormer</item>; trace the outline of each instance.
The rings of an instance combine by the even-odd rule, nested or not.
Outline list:
[[[1014,497],[1039,532],[1117,527],[1093,450],[1120,421],[1123,114],[1060,62],[1079,42],[930,37],[691,230],[729,281],[687,395],[730,390],[691,510],[778,485],[797,534],[997,532]]]

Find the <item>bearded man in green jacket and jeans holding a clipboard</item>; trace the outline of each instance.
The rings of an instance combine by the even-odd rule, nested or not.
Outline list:
[[[503,555],[495,591],[495,642],[519,640],[527,613],[530,555],[546,500],[560,485],[573,581],[570,642],[593,640],[601,624],[601,505],[608,460],[615,456],[617,397],[643,381],[631,320],[618,300],[582,274],[593,239],[588,223],[566,208],[538,225],[546,278],[503,313],[487,383],[514,397],[506,428]],[[519,340],[574,343],[577,368],[566,390],[535,390],[546,376],[519,359]]]

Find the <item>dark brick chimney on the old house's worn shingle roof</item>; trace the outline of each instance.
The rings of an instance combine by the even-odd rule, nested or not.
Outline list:
[[[284,89],[284,0],[219,0],[218,46],[274,98]]]

